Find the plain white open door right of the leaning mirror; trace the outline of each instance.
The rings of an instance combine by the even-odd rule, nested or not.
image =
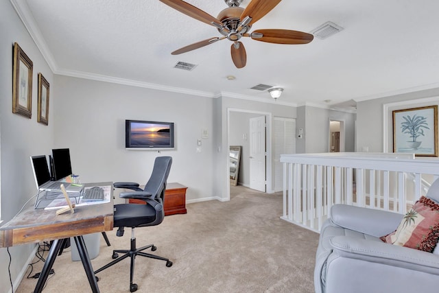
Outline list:
[[[265,192],[265,116],[250,118],[250,188]]]

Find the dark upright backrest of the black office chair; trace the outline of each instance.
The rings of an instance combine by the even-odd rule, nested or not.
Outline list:
[[[150,180],[146,183],[143,191],[153,194],[154,198],[161,198],[164,200],[166,180],[167,176],[169,176],[169,171],[171,170],[171,164],[171,156],[156,157]]]

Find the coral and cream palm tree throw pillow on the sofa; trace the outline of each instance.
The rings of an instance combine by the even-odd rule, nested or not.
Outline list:
[[[431,253],[439,240],[439,204],[422,196],[383,242]]]

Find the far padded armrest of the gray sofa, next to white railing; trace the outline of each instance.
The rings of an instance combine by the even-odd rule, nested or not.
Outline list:
[[[375,237],[387,235],[398,228],[403,215],[390,211],[335,204],[331,208],[331,224]]]

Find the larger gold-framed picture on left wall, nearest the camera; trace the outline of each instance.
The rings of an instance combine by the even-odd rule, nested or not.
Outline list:
[[[14,43],[12,76],[12,113],[32,117],[32,60]]]

